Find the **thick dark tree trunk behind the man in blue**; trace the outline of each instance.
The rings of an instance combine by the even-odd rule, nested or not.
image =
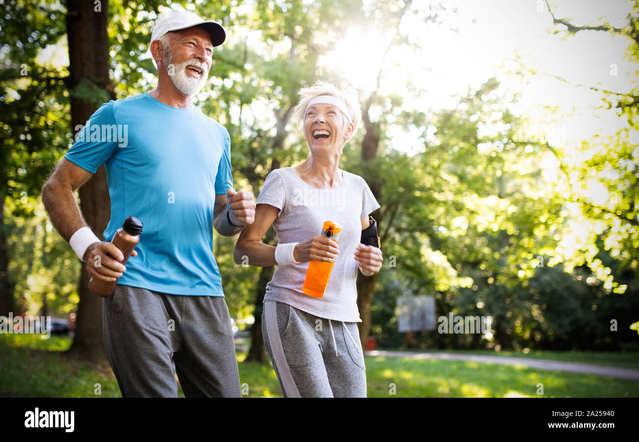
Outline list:
[[[66,33],[69,46],[70,88],[82,81],[112,94],[109,79],[109,18],[108,0],[100,3],[86,0],[68,0]],[[96,11],[96,9],[100,9]],[[77,125],[84,125],[95,112],[95,103],[88,103],[73,96],[71,98],[71,124],[75,133]],[[102,236],[111,212],[111,201],[104,166],[79,189],[80,208],[84,218],[97,236]],[[89,275],[82,268],[78,293],[80,302],[77,312],[75,339],[70,351],[87,356],[103,357],[102,298],[89,291]]]

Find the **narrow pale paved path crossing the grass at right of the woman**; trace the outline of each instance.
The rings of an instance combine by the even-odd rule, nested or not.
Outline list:
[[[597,374],[600,376],[617,377],[619,379],[629,379],[631,381],[639,381],[639,370],[624,369],[621,367],[606,367],[604,365],[593,365],[581,362],[560,362],[548,359],[532,359],[532,358],[515,358],[512,356],[485,356],[479,354],[463,354],[463,353],[440,353],[440,352],[424,352],[417,353],[414,351],[384,351],[373,350],[367,351],[366,356],[390,356],[411,359],[447,359],[447,360],[464,360],[471,362],[484,363],[501,363],[505,365],[525,365],[535,369],[544,370],[561,370],[574,373]]]

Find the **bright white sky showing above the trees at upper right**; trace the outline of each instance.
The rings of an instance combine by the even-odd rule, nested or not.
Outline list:
[[[407,92],[401,94],[406,98],[406,108],[449,108],[458,102],[454,95],[465,95],[468,86],[477,88],[496,75],[502,88],[521,94],[512,110],[532,118],[535,124],[554,123],[548,112],[541,109],[544,106],[556,106],[571,114],[555,125],[558,131],[566,133],[569,143],[589,139],[592,136],[587,132],[589,128],[602,126],[598,117],[607,120],[603,135],[613,135],[623,125],[614,111],[592,110],[601,105],[598,93],[573,84],[612,91],[629,91],[636,86],[639,65],[629,62],[625,55],[627,38],[600,31],[555,35],[550,31],[562,26],[553,25],[543,0],[450,0],[445,6],[449,10],[457,8],[457,13],[445,15],[442,25],[424,24],[420,17],[414,16],[403,20],[402,30],[421,50],[396,49],[389,54],[392,67],[381,81],[382,93],[395,90],[401,93],[406,80],[412,79],[427,93],[414,98]],[[566,17],[577,26],[607,21],[623,27],[631,11],[630,1],[619,0],[553,0],[551,6],[555,17]],[[459,33],[452,31],[455,28]],[[376,31],[351,29],[348,38],[338,43],[335,52],[322,62],[339,66],[351,83],[370,90],[385,49],[371,42],[385,41]],[[519,76],[508,75],[509,71],[520,70],[516,63],[507,62],[516,57],[526,68],[558,75],[573,84],[548,75],[528,75],[523,81]],[[391,144],[400,149],[419,149],[422,144],[417,132],[397,128],[391,134]]]

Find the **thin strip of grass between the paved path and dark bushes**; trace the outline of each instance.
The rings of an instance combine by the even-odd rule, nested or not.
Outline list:
[[[396,350],[396,349],[379,349]],[[493,351],[493,350],[439,350],[439,349],[406,349],[403,351],[427,351],[429,353],[462,353],[477,354],[482,356],[512,356],[515,358],[547,359],[562,362],[580,362],[594,365],[607,365],[609,367],[622,367],[626,369],[639,369],[639,351],[605,352],[605,351],[553,351],[530,350],[523,351]]]

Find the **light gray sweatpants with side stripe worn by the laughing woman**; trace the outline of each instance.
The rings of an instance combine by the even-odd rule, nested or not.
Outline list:
[[[356,323],[329,324],[291,305],[265,301],[262,334],[284,397],[366,397]]]

